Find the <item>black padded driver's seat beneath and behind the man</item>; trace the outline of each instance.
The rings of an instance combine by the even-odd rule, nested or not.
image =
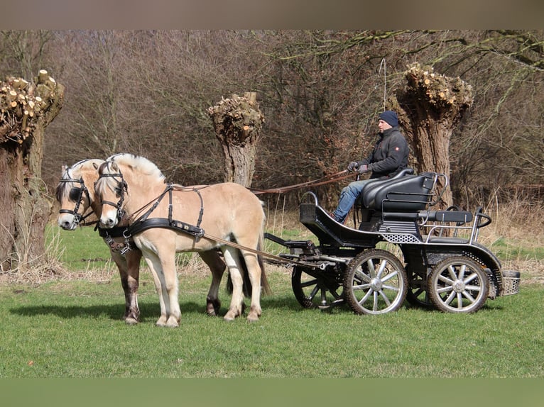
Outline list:
[[[388,182],[370,184],[364,190],[363,204],[375,211],[423,211],[431,200],[435,175],[424,172]]]

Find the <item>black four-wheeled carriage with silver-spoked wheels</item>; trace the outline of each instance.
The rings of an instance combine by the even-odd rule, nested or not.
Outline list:
[[[435,210],[444,174],[413,174],[366,184],[350,228],[334,219],[312,192],[300,204],[300,222],[319,240],[266,238],[288,248],[292,286],[305,308],[347,303],[355,313],[396,311],[407,300],[452,313],[478,311],[487,299],[516,294],[520,273],[477,242],[491,218],[457,207]]]

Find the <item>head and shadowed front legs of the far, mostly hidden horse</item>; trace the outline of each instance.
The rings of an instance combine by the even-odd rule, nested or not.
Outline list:
[[[85,218],[92,215],[100,218],[102,206],[94,194],[94,182],[98,179],[98,167],[104,160],[89,159],[76,162],[71,167],[62,166],[62,176],[58,183],[55,197],[60,204],[57,223],[65,230],[75,230],[80,222],[85,224]],[[91,208],[86,216],[87,210]],[[119,225],[123,226],[123,225]],[[122,229],[121,229],[122,230]],[[138,307],[138,281],[140,274],[141,251],[136,249],[121,255],[116,250],[116,245],[123,245],[124,238],[121,235],[112,237],[104,234],[104,242],[109,247],[111,259],[119,269],[121,286],[125,296],[125,313],[123,320],[129,325],[138,323],[140,308]],[[114,234],[115,235],[115,234]],[[110,245],[109,236],[114,244]]]

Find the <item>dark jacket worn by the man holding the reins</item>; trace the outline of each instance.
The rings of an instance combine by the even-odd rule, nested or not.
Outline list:
[[[380,138],[374,145],[371,154],[359,161],[359,165],[368,165],[372,171],[371,178],[393,177],[408,167],[410,149],[406,138],[398,127],[388,128],[379,133]]]

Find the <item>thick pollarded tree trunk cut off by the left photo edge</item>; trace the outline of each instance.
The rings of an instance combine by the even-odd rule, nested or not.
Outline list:
[[[45,127],[62,108],[64,87],[40,71],[34,83],[0,82],[0,267],[21,271],[45,255],[50,202],[41,179]]]

